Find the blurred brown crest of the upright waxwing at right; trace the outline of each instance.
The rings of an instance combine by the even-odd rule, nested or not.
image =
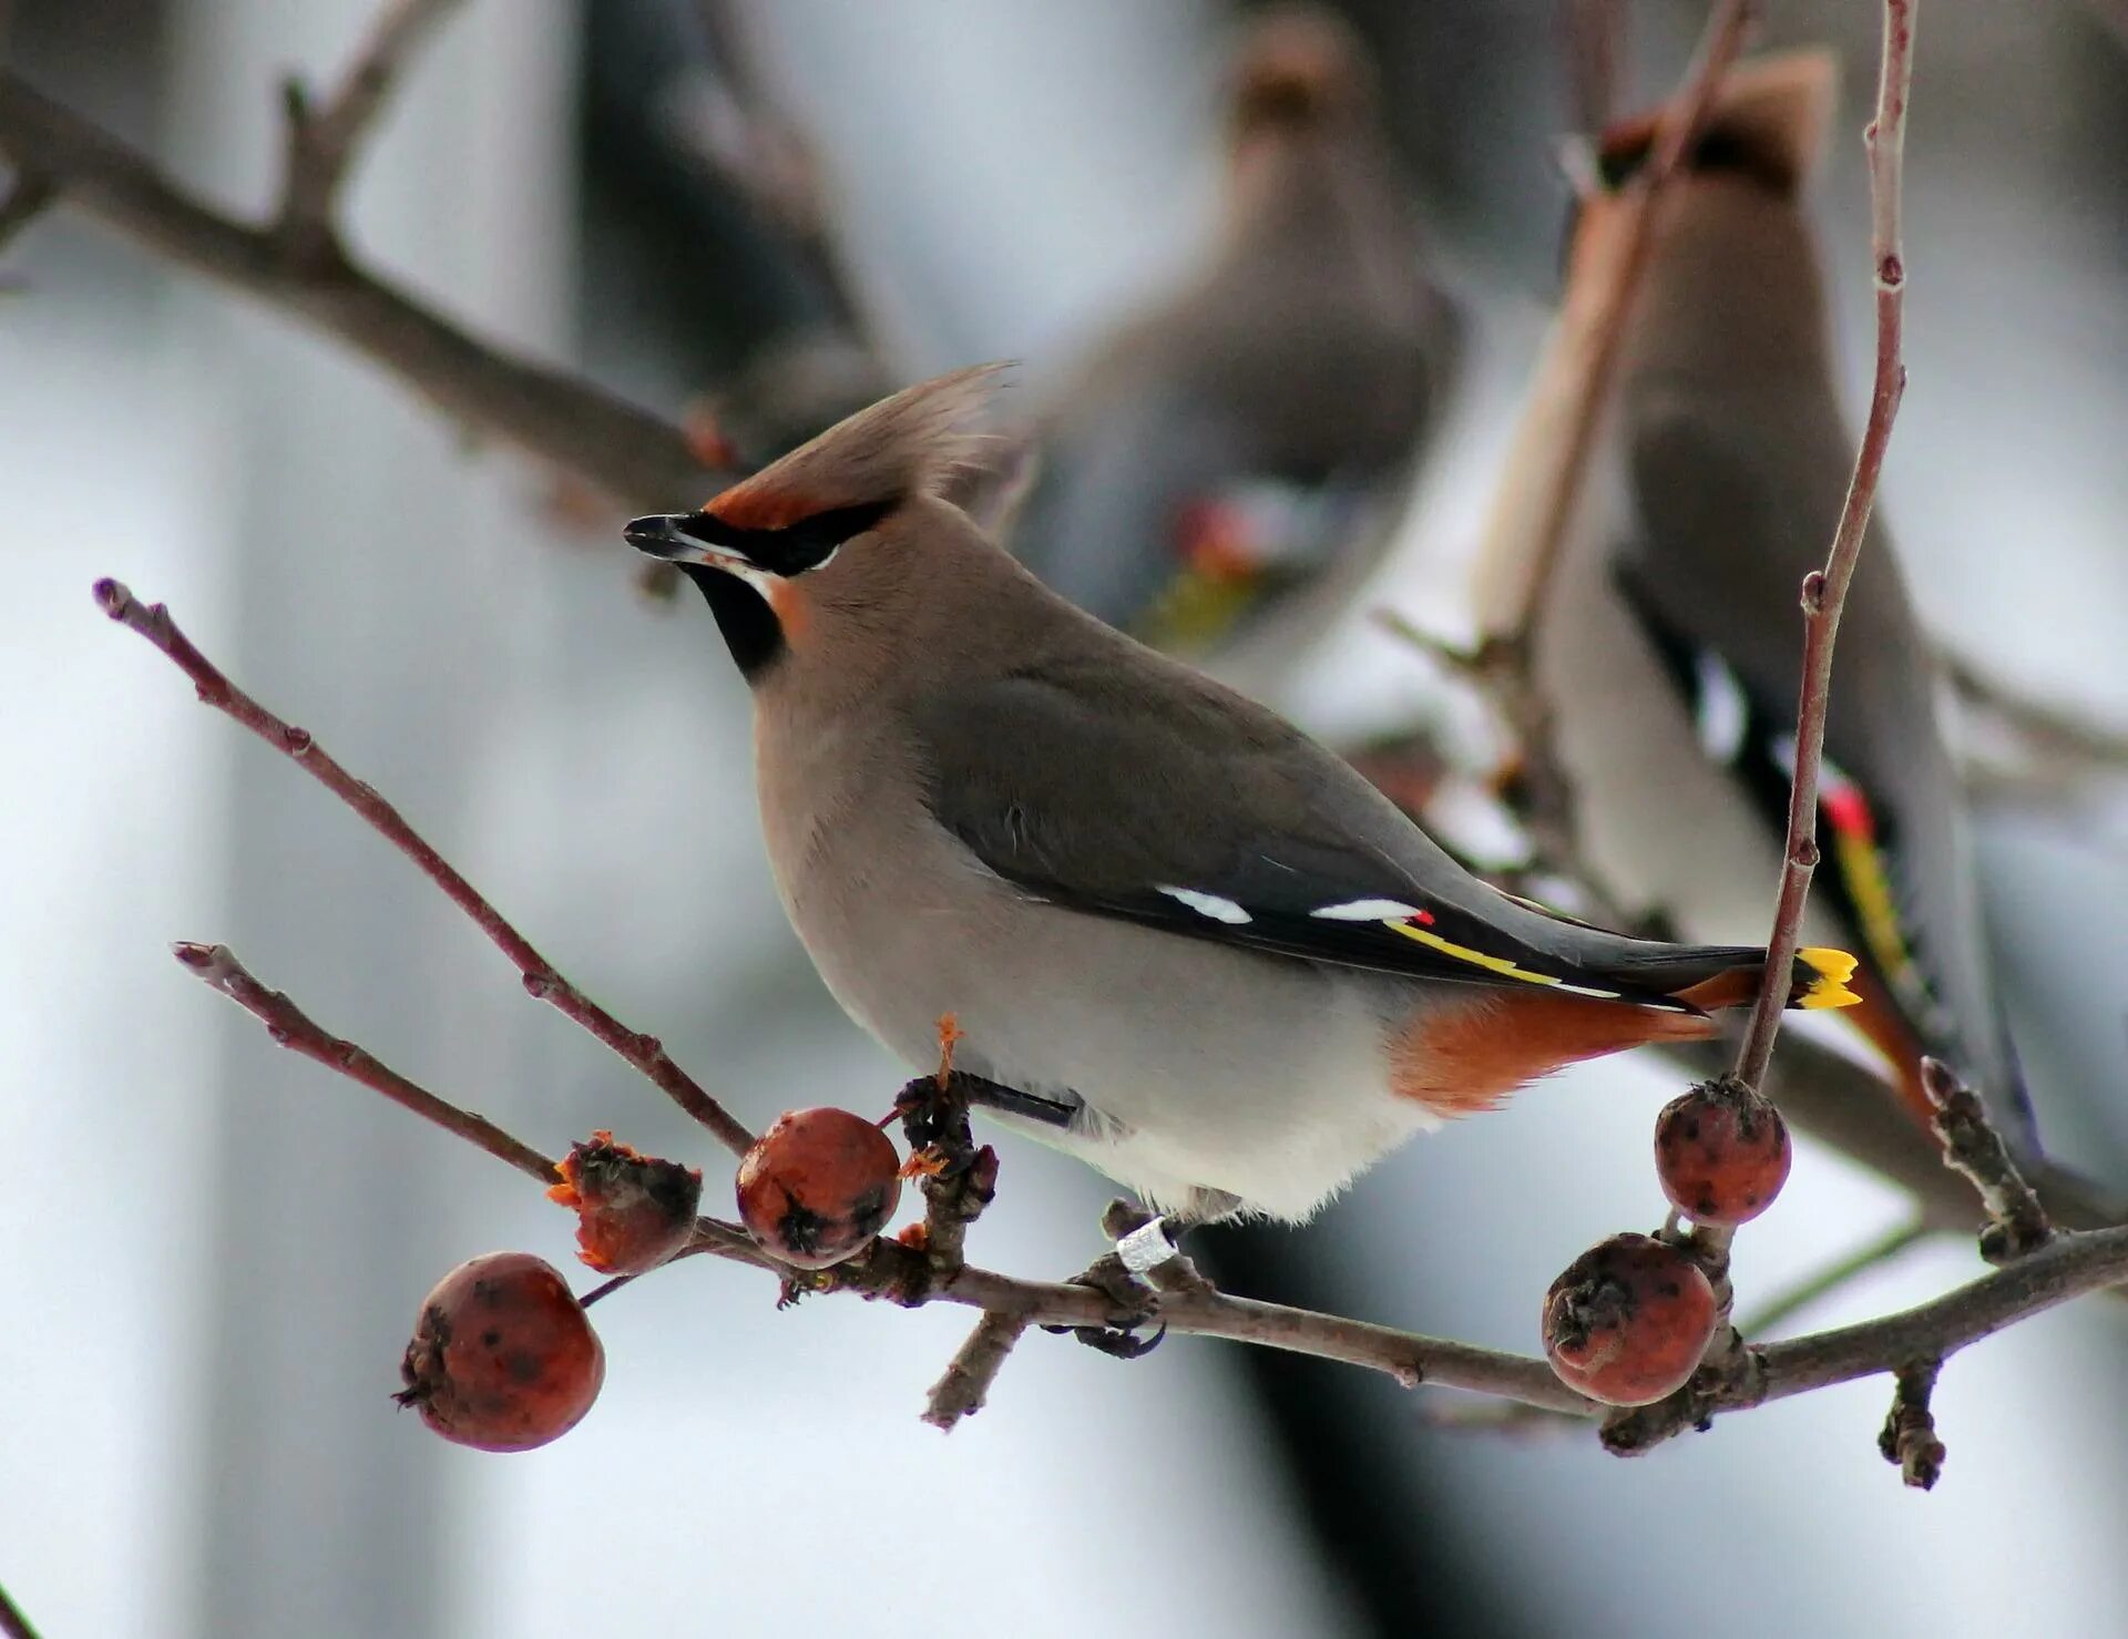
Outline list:
[[[1741,64],[1715,96],[1692,166],[1741,170],[1798,194],[1817,170],[1836,96],[1839,57],[1826,47]],[[1607,177],[1622,177],[1647,158],[1656,119],[1656,111],[1632,115],[1602,134],[1598,160]]]

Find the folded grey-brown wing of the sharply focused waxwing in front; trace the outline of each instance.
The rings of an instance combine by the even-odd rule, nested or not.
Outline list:
[[[1668,992],[1762,956],[1513,903],[1270,713],[1162,677],[1096,658],[926,698],[932,815],[1030,898],[1332,966],[1694,1011]]]

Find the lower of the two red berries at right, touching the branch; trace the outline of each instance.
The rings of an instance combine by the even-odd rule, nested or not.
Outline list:
[[[1649,1405],[1683,1388],[1713,1335],[1707,1275],[1649,1235],[1613,1235],[1545,1292],[1551,1369],[1607,1405]]]

